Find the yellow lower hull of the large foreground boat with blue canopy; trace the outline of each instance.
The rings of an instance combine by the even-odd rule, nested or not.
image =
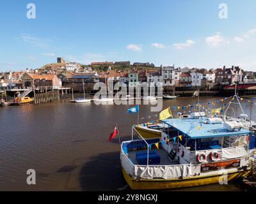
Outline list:
[[[149,189],[179,189],[184,187],[204,186],[207,184],[217,184],[222,175],[207,175],[195,176],[184,179],[132,179],[122,168],[124,179],[127,184],[134,190],[149,190]],[[239,177],[246,177],[251,170],[228,173],[228,181],[238,179]]]

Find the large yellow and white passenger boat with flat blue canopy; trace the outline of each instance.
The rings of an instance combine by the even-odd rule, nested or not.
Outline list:
[[[204,112],[161,122],[167,126],[161,138],[144,138],[133,126],[132,139],[122,143],[122,172],[131,189],[201,186],[250,174],[255,132],[243,124]]]

